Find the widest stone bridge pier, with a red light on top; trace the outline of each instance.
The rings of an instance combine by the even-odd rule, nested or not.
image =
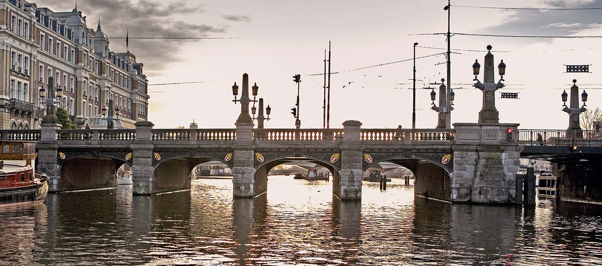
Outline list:
[[[518,146],[518,124],[456,123],[454,127],[452,201],[516,204],[522,150]]]

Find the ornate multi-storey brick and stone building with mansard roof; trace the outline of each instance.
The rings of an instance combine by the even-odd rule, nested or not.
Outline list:
[[[0,128],[38,128],[45,114],[40,88],[48,77],[63,88],[58,106],[83,127],[113,99],[116,113],[146,121],[148,80],[129,52],[113,52],[98,20],[88,28],[77,7],[54,12],[23,0],[0,0]]]

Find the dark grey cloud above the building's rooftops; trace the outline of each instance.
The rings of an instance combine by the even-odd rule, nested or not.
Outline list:
[[[71,11],[70,1],[47,0],[39,3],[55,12]],[[125,37],[129,29],[129,50],[136,55],[138,62],[144,63],[147,76],[160,74],[170,62],[179,59],[181,46],[198,40],[147,40],[132,37],[220,37],[228,25],[217,23],[190,23],[182,17],[194,15],[194,21],[203,18],[202,5],[191,6],[184,1],[159,2],[150,0],[79,0],[78,10],[87,16],[87,26],[96,29],[101,19],[102,31],[108,35],[110,50],[125,50],[125,40],[113,37]],[[209,17],[209,16],[207,16]]]

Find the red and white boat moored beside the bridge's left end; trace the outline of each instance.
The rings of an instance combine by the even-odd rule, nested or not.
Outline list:
[[[0,142],[0,208],[44,202],[49,180],[35,165],[35,142]]]

